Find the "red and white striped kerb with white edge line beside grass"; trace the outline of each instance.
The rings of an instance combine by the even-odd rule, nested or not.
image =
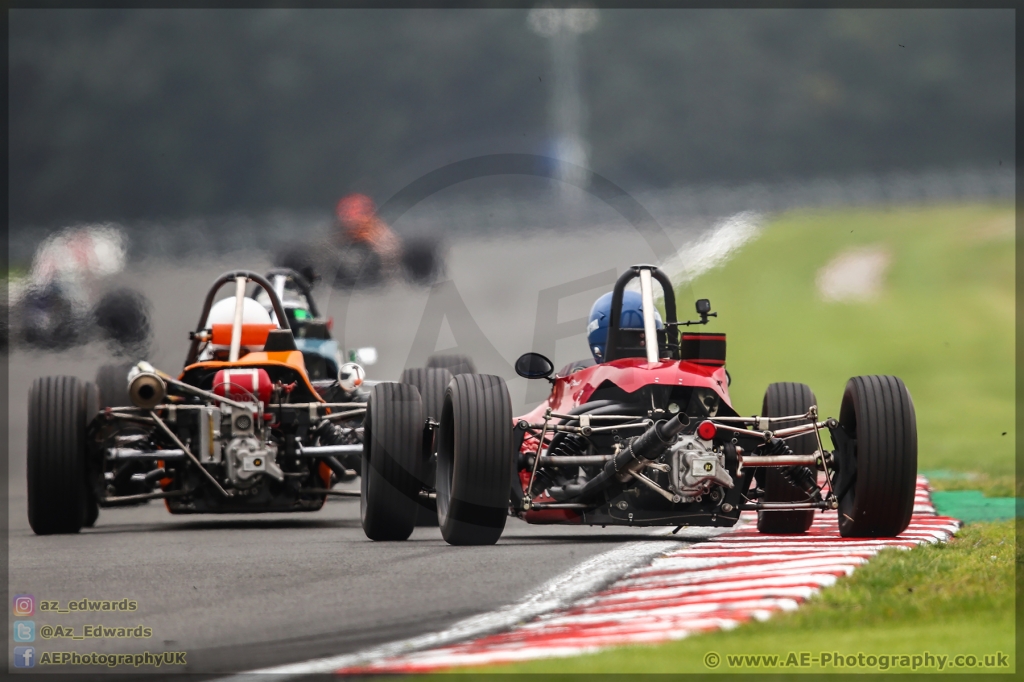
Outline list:
[[[744,512],[739,524],[724,532],[694,528],[705,534],[691,538],[698,542],[629,543],[515,604],[437,633],[251,671],[237,679],[257,673],[261,680],[430,673],[682,639],[799,608],[880,551],[946,542],[962,525],[936,514],[924,477],[918,478],[910,524],[896,538],[841,538],[836,511],[819,513],[810,530],[799,536],[760,534],[756,518],[756,512]]]

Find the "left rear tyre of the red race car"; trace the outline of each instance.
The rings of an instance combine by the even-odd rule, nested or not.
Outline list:
[[[437,431],[437,520],[450,545],[493,545],[512,491],[512,401],[501,377],[449,384]]]

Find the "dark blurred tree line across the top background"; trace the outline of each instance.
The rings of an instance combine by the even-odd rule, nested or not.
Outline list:
[[[327,209],[548,148],[526,10],[9,11],[18,224]],[[627,188],[1009,164],[1011,10],[604,9],[595,170]]]

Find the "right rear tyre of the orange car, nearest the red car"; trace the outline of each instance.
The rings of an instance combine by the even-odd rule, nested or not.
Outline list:
[[[371,389],[364,420],[359,516],[371,540],[407,540],[422,487],[423,403],[415,386]]]

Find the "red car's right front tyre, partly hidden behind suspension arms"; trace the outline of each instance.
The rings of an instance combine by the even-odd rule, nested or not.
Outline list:
[[[761,406],[762,417],[788,417],[803,415],[811,406],[817,404],[814,392],[807,384],[779,382],[770,384],[765,390],[764,402]],[[809,424],[810,420],[785,422],[778,428]],[[813,455],[818,449],[817,439],[813,433],[790,438],[785,441],[794,455]],[[805,467],[806,468],[806,467]],[[807,494],[787,480],[782,472],[774,467],[764,467],[759,475],[764,486],[765,502],[806,502]],[[814,510],[797,511],[758,511],[758,530],[772,535],[791,535],[807,532],[814,521]]]

